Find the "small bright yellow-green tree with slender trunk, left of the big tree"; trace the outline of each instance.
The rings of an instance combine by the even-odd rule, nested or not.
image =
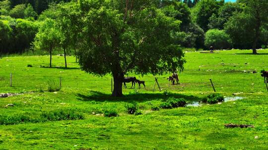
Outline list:
[[[36,34],[35,49],[46,50],[50,54],[50,67],[52,67],[52,51],[60,43],[60,32],[52,19],[46,19]]]

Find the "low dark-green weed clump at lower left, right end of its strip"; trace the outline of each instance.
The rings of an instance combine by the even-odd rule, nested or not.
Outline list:
[[[57,110],[53,112],[43,112],[42,118],[48,121],[60,121],[60,120],[78,120],[84,119],[84,115],[80,112],[73,110]]]

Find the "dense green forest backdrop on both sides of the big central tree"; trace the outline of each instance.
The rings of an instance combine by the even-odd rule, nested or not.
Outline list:
[[[172,36],[182,47],[256,49],[268,45],[268,0],[151,1],[163,14],[180,21],[180,31]],[[62,7],[75,2],[77,0],[0,0],[0,54],[66,49],[62,44],[61,18],[75,10],[63,13]],[[44,32],[53,43],[42,38]],[[68,47],[69,51],[79,49]]]

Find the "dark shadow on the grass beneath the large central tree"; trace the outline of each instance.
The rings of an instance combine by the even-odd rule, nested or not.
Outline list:
[[[169,97],[175,98],[184,98],[187,101],[201,101],[200,97],[196,96],[189,96],[183,94],[175,94],[175,93],[168,93],[164,95],[164,93],[137,93],[137,94],[126,94],[123,97],[112,97],[110,94],[104,94],[97,91],[90,91],[90,94],[83,95],[77,94],[76,95],[78,100],[80,101],[98,101],[98,102],[146,102],[151,100],[163,100]]]

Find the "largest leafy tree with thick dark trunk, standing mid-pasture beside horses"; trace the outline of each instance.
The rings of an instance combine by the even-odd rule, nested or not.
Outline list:
[[[79,64],[87,73],[112,74],[112,96],[122,96],[128,72],[161,75],[182,71],[183,52],[171,35],[181,21],[157,8],[159,0],[78,0]],[[73,3],[71,4],[74,5]],[[70,12],[71,13],[71,12]],[[73,18],[72,18],[73,19]]]

